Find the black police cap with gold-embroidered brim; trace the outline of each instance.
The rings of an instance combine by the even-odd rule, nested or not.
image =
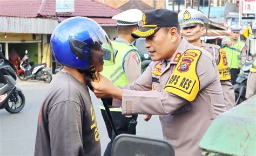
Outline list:
[[[146,11],[142,16],[142,26],[132,33],[133,38],[146,38],[161,27],[179,27],[178,13],[167,9]]]

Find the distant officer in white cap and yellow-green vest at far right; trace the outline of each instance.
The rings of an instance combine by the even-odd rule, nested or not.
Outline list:
[[[234,85],[239,74],[239,68],[245,63],[247,47],[245,42],[239,39],[242,27],[234,24],[230,26],[230,30],[230,36],[223,38],[221,46],[225,49],[227,62],[230,66],[231,83]]]

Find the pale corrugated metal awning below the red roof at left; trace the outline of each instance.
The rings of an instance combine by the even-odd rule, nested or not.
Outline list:
[[[0,23],[0,32],[51,34],[58,25],[58,20],[0,16]]]

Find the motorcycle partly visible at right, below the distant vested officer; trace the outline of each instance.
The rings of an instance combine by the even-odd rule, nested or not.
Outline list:
[[[246,100],[245,94],[246,94],[247,78],[250,73],[252,64],[253,62],[246,61],[245,64],[240,69],[240,73],[237,77],[237,80],[235,80],[236,82],[236,84],[234,84],[235,105],[238,105],[241,102]]]

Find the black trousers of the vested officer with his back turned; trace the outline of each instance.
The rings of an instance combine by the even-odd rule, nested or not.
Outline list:
[[[109,138],[111,140],[109,144],[107,144],[106,150],[104,152],[104,156],[111,156],[111,147],[112,147],[113,140],[115,138],[115,134],[110,124],[109,118],[107,117],[106,111],[103,109],[100,109],[100,111],[102,112],[102,117],[106,125],[107,134],[109,135]],[[119,111],[112,111],[111,115],[113,117],[113,123],[116,126],[118,134],[122,134],[122,133],[136,134],[135,127],[132,130],[129,129],[129,123],[132,119],[137,120],[138,115],[133,115],[132,117],[125,117],[124,115],[122,115],[122,112],[119,112]]]

